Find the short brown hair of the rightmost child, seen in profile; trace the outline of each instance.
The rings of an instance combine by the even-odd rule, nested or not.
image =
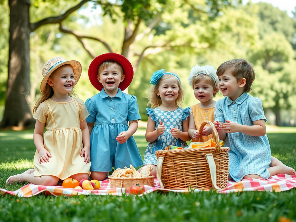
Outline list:
[[[250,92],[253,81],[255,80],[255,71],[253,65],[245,59],[231,59],[223,62],[217,69],[217,76],[223,75],[226,70],[231,70],[232,75],[237,82],[245,78],[247,80],[244,86],[244,92]]]

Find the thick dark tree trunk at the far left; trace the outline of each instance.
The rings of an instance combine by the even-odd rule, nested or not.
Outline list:
[[[9,59],[6,104],[1,128],[33,126],[35,122],[25,99],[30,88],[30,0],[9,0]]]

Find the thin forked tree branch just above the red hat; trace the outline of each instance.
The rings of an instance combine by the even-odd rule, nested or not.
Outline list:
[[[94,53],[94,51],[91,49],[91,47],[89,46],[89,44],[87,44],[86,41],[84,41],[83,38],[88,38],[88,39],[92,39],[92,40],[96,40],[96,41],[99,41],[101,42],[109,52],[114,52],[111,47],[109,46],[109,44],[107,44],[104,40],[100,39],[100,38],[94,38],[94,37],[91,37],[91,36],[85,36],[83,34],[81,34],[80,32],[76,31],[76,30],[70,30],[70,29],[64,29],[62,27],[62,24],[59,23],[59,30],[61,32],[64,32],[64,33],[68,33],[68,34],[72,34],[74,35],[78,41],[81,42],[82,46],[84,47],[84,49],[88,52],[88,54],[92,57],[92,58],[95,58],[96,55]]]

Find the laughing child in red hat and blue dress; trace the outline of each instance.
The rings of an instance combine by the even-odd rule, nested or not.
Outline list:
[[[143,165],[133,138],[141,119],[136,96],[122,92],[133,79],[133,67],[126,57],[106,53],[89,66],[89,80],[100,93],[87,99],[86,118],[91,133],[91,178],[102,181],[116,168]]]

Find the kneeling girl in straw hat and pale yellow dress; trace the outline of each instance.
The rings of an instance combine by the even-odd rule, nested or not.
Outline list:
[[[54,57],[44,64],[42,75],[42,96],[33,109],[36,119],[33,139],[37,149],[34,169],[9,177],[7,184],[30,182],[54,186],[59,179],[71,177],[80,181],[90,175],[89,131],[85,120],[89,113],[83,101],[72,94],[81,75],[81,64]]]

